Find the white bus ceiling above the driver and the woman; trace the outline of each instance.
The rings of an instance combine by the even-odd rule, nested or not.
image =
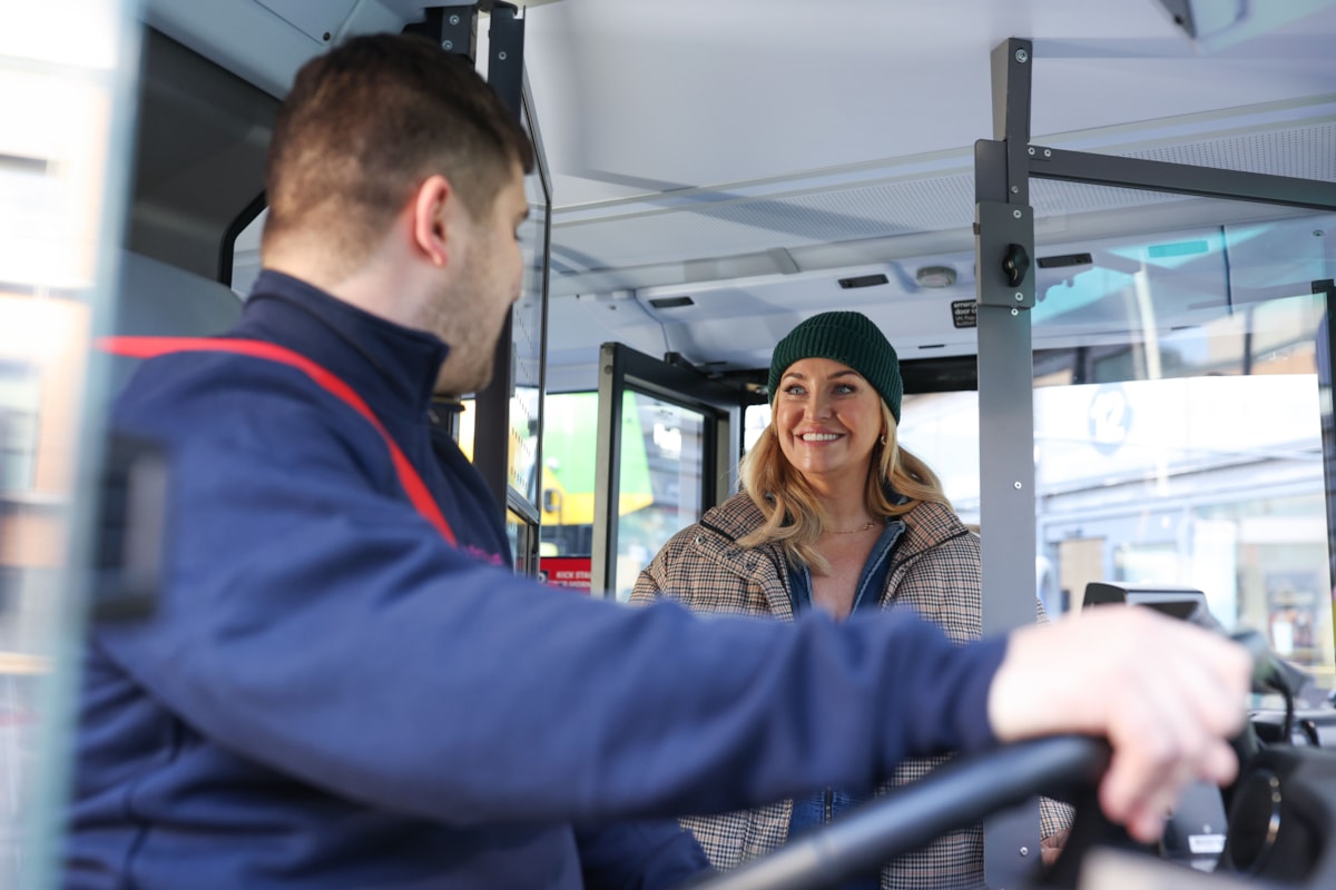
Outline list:
[[[148,0],[146,19],[281,95],[329,43],[424,5]],[[592,388],[604,340],[756,368],[830,307],[867,312],[906,359],[973,354],[951,303],[974,294],[973,144],[994,135],[989,59],[1007,37],[1034,41],[1031,144],[1336,180],[1336,5],[1222,5],[1241,19],[1193,41],[1161,0],[530,4],[553,172],[549,390]],[[1041,180],[1030,203],[1041,256],[1093,251],[1097,267],[1132,234],[1296,215]],[[955,283],[921,286],[931,266]],[[887,284],[838,284],[875,274]],[[1038,295],[1065,282],[1045,275]],[[1035,347],[1082,343],[1078,315],[1037,327]]]

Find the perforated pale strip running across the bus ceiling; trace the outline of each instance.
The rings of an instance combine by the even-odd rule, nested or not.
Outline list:
[[[1063,141],[1045,144],[1057,147]],[[1271,132],[1108,151],[1150,160],[1336,181],[1333,145],[1336,123],[1325,120]],[[621,201],[604,211],[578,208],[578,221],[562,221],[565,213],[557,211],[553,251],[560,266],[554,271],[557,276],[578,276],[592,270],[725,260],[772,248],[791,248],[800,255],[800,248],[818,244],[931,232],[951,232],[958,242],[959,230],[969,228],[974,219],[974,173],[969,155],[961,152],[955,169],[941,169],[939,165],[933,175],[896,177],[896,171],[911,160],[902,159],[876,169],[864,168],[859,171],[860,183],[826,189],[811,188],[811,177],[796,177],[727,191],[699,189],[685,193],[685,200],[675,195],[681,203],[671,208],[652,205],[655,199]],[[830,171],[823,175],[828,176]],[[743,191],[755,196],[737,195]],[[1097,215],[1182,201],[1180,196],[1154,192],[1031,181],[1031,204],[1041,221],[1054,216]],[[1218,207],[1208,204],[1201,201],[1204,213],[1220,212]],[[1181,224],[1182,219],[1174,223]],[[1098,234],[1097,219],[1093,226],[1089,231]],[[720,262],[719,268],[717,278],[727,278],[728,264]]]

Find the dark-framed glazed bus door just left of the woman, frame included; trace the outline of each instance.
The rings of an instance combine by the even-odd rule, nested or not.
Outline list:
[[[659,548],[737,490],[748,400],[756,399],[693,368],[603,344],[589,578],[595,595],[628,599]]]

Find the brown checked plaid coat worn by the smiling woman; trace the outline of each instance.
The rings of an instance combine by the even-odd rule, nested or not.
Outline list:
[[[903,519],[906,528],[891,554],[882,607],[912,606],[953,640],[978,639],[982,628],[978,538],[941,504],[922,503]],[[697,611],[794,620],[783,550],[778,544],[743,548],[736,543],[763,522],[751,498],[733,495],[664,544],[640,574],[631,600],[647,603],[669,596]],[[981,714],[979,719],[986,717]],[[921,779],[946,759],[906,761],[883,787]],[[724,815],[688,817],[681,823],[696,835],[715,867],[728,870],[783,845],[792,809],[792,801],[780,801]],[[1043,837],[1069,827],[1070,821],[1067,807],[1042,802]],[[1038,851],[1035,857],[1038,861]],[[982,827],[947,834],[918,853],[892,861],[882,869],[880,883],[882,890],[982,887]]]

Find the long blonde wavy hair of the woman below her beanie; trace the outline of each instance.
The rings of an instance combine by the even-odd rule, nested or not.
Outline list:
[[[876,519],[903,516],[921,503],[939,503],[950,508],[942,482],[919,458],[899,447],[895,416],[882,402],[882,435],[886,444],[872,447],[872,463],[863,487],[863,504]],[[775,402],[771,402],[774,416]],[[830,571],[830,563],[816,551],[816,539],[830,522],[816,492],[779,447],[774,420],[766,427],[739,464],[743,490],[766,516],[756,531],[737,540],[743,547],[779,543],[792,564],[806,564],[818,574]],[[896,504],[887,496],[887,486],[908,500]]]

